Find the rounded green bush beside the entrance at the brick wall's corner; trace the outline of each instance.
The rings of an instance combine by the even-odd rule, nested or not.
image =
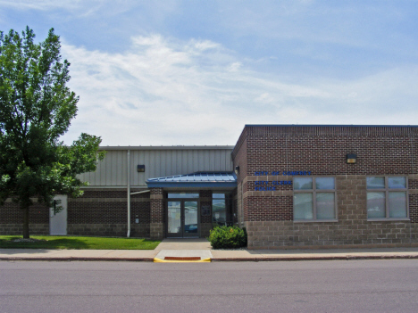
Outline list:
[[[207,238],[213,249],[247,247],[247,231],[239,227],[214,227]]]

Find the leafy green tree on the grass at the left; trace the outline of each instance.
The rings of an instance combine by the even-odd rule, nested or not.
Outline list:
[[[36,44],[29,27],[21,36],[0,32],[0,205],[7,198],[23,210],[23,237],[29,238],[32,199],[51,207],[54,194],[82,194],[77,175],[96,170],[101,139],[81,134],[71,146],[60,141],[77,114],[60,37],[50,29]]]

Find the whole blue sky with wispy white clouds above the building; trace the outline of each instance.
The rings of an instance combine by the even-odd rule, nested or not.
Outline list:
[[[102,145],[236,144],[246,124],[418,124],[418,1],[0,0],[54,28]]]

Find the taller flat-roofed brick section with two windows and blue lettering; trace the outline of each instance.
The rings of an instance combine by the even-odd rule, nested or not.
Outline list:
[[[418,243],[417,127],[246,126],[232,152],[251,248]]]

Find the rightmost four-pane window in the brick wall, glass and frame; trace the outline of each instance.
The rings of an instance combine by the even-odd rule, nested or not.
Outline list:
[[[406,177],[366,177],[367,218],[407,218]]]

